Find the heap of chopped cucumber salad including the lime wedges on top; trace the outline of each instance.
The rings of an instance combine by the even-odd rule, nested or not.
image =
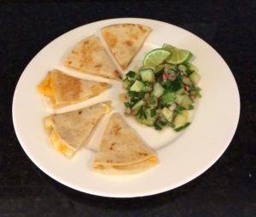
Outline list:
[[[143,66],[129,71],[123,80],[128,96],[124,100],[125,113],[157,130],[170,127],[179,132],[187,128],[189,110],[201,97],[198,69],[188,62],[191,56],[188,50],[166,43],[162,49],[150,51]]]

